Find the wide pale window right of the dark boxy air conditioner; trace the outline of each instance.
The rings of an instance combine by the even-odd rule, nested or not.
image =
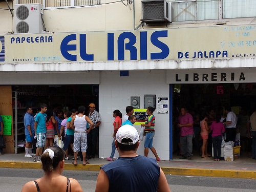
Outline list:
[[[256,16],[256,0],[169,0],[172,22]]]

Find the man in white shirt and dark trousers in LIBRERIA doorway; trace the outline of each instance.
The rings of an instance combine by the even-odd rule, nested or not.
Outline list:
[[[228,141],[235,141],[237,135],[237,115],[231,111],[230,106],[225,106],[225,112],[227,113],[226,121],[224,125],[226,125],[226,140]]]

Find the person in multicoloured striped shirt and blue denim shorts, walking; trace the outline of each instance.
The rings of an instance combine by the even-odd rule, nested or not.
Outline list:
[[[144,142],[144,156],[147,157],[148,155],[148,148],[152,151],[152,153],[155,155],[156,160],[160,161],[160,158],[157,155],[156,149],[153,147],[153,137],[155,136],[155,116],[153,115],[153,112],[156,109],[152,106],[148,106],[146,109],[146,113],[148,114],[148,117],[146,119],[145,124],[141,124],[140,126],[145,127],[145,142]]]

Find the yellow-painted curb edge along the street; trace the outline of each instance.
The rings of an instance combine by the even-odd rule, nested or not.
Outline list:
[[[74,166],[72,163],[65,163],[65,170],[88,170],[99,172],[100,164]],[[41,169],[41,163],[37,162],[13,162],[0,161],[2,168],[28,168]],[[229,170],[229,169],[204,169],[204,168],[182,168],[182,167],[161,167],[165,175],[200,176],[200,177],[229,177],[241,179],[256,179],[256,172],[251,170]]]

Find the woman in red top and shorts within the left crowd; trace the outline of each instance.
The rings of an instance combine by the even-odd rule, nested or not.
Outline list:
[[[54,140],[54,126],[56,123],[56,120],[53,116],[52,110],[47,110],[46,112],[47,118],[46,118],[46,146],[53,146],[53,140]]]

